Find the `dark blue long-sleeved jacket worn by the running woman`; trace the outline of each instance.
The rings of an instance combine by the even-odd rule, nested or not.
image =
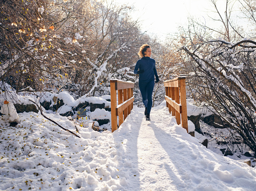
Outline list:
[[[157,77],[156,61],[150,57],[144,56],[142,59],[139,59],[134,68],[135,74],[137,74],[138,69],[144,70],[143,73],[139,74],[139,81],[149,82],[154,80],[154,76]]]

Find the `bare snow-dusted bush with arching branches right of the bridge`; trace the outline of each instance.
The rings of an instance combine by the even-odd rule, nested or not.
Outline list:
[[[256,41],[222,39],[183,47],[191,60],[188,86],[200,105],[219,115],[256,151]],[[196,49],[196,45],[194,50]]]

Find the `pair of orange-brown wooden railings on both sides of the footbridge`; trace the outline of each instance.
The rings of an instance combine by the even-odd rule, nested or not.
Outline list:
[[[185,77],[164,81],[164,85],[166,106],[169,109],[169,113],[172,113],[176,117],[177,124],[182,124],[182,127],[188,132]],[[133,109],[133,88],[134,82],[110,80],[112,132],[121,126]]]

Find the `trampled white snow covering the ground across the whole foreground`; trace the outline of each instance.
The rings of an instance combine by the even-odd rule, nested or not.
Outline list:
[[[75,132],[68,118],[44,114]],[[9,127],[9,116],[0,117],[0,190],[249,191],[256,187],[255,168],[201,145],[176,124],[165,102],[152,108],[151,121],[145,120],[143,108],[134,106],[118,130],[100,133],[90,123],[76,132],[81,138],[37,113],[19,113],[19,119],[16,127]]]

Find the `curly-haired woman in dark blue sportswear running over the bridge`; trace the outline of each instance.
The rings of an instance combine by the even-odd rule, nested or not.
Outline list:
[[[146,115],[146,120],[150,121],[154,76],[156,76],[156,83],[159,81],[156,70],[156,61],[150,58],[151,48],[147,44],[141,46],[138,55],[141,59],[137,61],[134,73],[139,74],[138,86],[139,90],[141,90],[143,104],[145,105],[144,114]]]

